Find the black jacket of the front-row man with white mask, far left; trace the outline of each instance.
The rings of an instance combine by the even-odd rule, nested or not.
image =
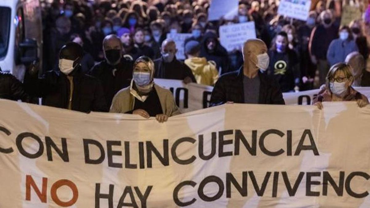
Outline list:
[[[73,95],[72,110],[89,113],[90,111],[107,112],[103,89],[97,78],[81,72],[81,66],[72,72]],[[38,78],[26,73],[24,77],[26,91],[43,98],[43,105],[68,108],[70,82],[60,71],[48,71]]]

